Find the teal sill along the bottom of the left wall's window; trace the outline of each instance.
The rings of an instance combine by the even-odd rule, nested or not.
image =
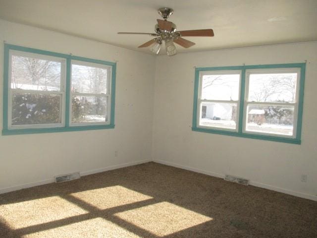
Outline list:
[[[65,131],[82,131],[82,130],[100,130],[112,129],[114,125],[84,125],[84,126],[69,126],[69,127],[54,127],[54,128],[30,128],[30,129],[3,129],[2,135],[22,135],[22,134],[37,134],[37,133],[54,133]]]

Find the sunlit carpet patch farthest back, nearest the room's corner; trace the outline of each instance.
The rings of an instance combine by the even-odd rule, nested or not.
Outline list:
[[[70,195],[99,209],[122,206],[153,198],[119,185],[71,193]]]

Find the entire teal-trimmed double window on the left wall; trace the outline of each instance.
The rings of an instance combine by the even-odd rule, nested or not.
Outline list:
[[[3,135],[114,127],[115,63],[4,50]]]

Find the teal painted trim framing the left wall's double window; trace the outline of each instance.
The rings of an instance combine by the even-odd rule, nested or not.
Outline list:
[[[21,51],[33,54],[53,56],[66,60],[66,88],[65,88],[65,126],[49,128],[25,128],[25,129],[8,129],[8,90],[9,90],[9,51]],[[110,123],[105,125],[81,125],[69,126],[69,108],[70,108],[70,80],[71,80],[71,60],[98,63],[111,66],[111,105],[110,105]],[[105,60],[94,60],[90,58],[66,55],[51,51],[27,48],[22,46],[4,44],[4,63],[3,63],[3,127],[2,135],[17,134],[34,134],[34,133],[51,133],[63,131],[82,131],[114,128],[114,105],[115,105],[115,77],[116,63]]]

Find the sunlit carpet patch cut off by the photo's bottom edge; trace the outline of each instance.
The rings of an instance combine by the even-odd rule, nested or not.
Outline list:
[[[28,234],[23,238],[139,238],[139,236],[103,218],[94,218]]]

